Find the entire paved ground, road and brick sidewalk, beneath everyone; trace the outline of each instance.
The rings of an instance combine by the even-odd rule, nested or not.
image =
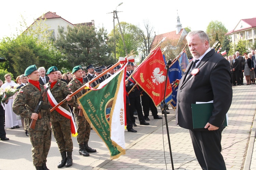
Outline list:
[[[222,154],[227,169],[256,169],[256,154],[253,152],[255,126],[253,124],[256,108],[256,86],[236,86],[233,88],[233,101],[228,111],[228,127],[223,131]],[[169,110],[168,128],[174,169],[201,169],[195,157],[189,132],[175,126],[175,111]],[[159,111],[159,115],[160,111]],[[150,115],[150,126],[134,127],[138,133],[125,132],[126,155],[110,160],[105,144],[92,130],[89,145],[97,149],[89,157],[78,153],[78,144],[73,138],[73,166],[69,169],[172,169],[165,120],[154,120]],[[137,121],[137,124],[138,121]],[[162,126],[163,124],[163,126]],[[6,129],[9,141],[0,141],[0,170],[34,169],[31,157],[31,144],[22,128]],[[248,151],[247,151],[248,148]],[[248,152],[248,154],[247,154]],[[254,159],[252,159],[252,156]],[[252,161],[251,161],[252,160]],[[47,167],[57,169],[60,154],[54,137],[47,158]],[[245,162],[245,164],[244,164]],[[254,166],[254,165],[255,166]],[[254,167],[253,167],[254,166]],[[61,168],[63,169],[63,168]]]

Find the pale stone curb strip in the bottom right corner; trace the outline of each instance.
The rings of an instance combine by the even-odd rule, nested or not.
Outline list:
[[[253,155],[253,147],[254,147],[254,141],[256,135],[256,119],[255,119],[255,113],[254,113],[254,119],[253,119],[253,126],[250,134],[249,144],[247,148],[247,153],[244,161],[244,167],[243,170],[250,170],[251,162],[252,162],[252,155]],[[256,151],[255,151],[256,152]]]

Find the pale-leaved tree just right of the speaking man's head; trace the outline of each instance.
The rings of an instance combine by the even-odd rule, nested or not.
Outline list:
[[[225,34],[228,32],[226,27],[220,21],[211,21],[207,26],[206,33],[210,39],[210,45],[213,45],[216,41],[224,42]]]

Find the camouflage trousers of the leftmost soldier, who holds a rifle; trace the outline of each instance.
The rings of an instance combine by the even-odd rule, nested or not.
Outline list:
[[[29,131],[29,138],[32,144],[32,158],[34,166],[42,166],[51,147],[51,130]]]

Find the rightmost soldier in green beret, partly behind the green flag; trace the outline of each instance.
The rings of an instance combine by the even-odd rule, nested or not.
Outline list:
[[[81,65],[77,65],[73,68],[72,74],[74,74],[73,80],[69,82],[69,87],[72,92],[75,92],[76,90],[80,89],[86,82],[83,80],[83,70]],[[83,111],[81,107],[77,103],[77,98],[82,96],[86,92],[85,89],[81,90],[79,93],[75,95],[75,102],[73,105],[74,107],[74,114],[76,117],[76,123],[77,123],[77,142],[79,144],[79,154],[83,156],[89,156],[89,153],[96,152],[95,149],[91,149],[88,146],[88,141],[90,137],[91,132],[91,126],[89,122],[86,121]],[[81,114],[79,114],[79,112]],[[88,153],[89,152],[89,153]]]

